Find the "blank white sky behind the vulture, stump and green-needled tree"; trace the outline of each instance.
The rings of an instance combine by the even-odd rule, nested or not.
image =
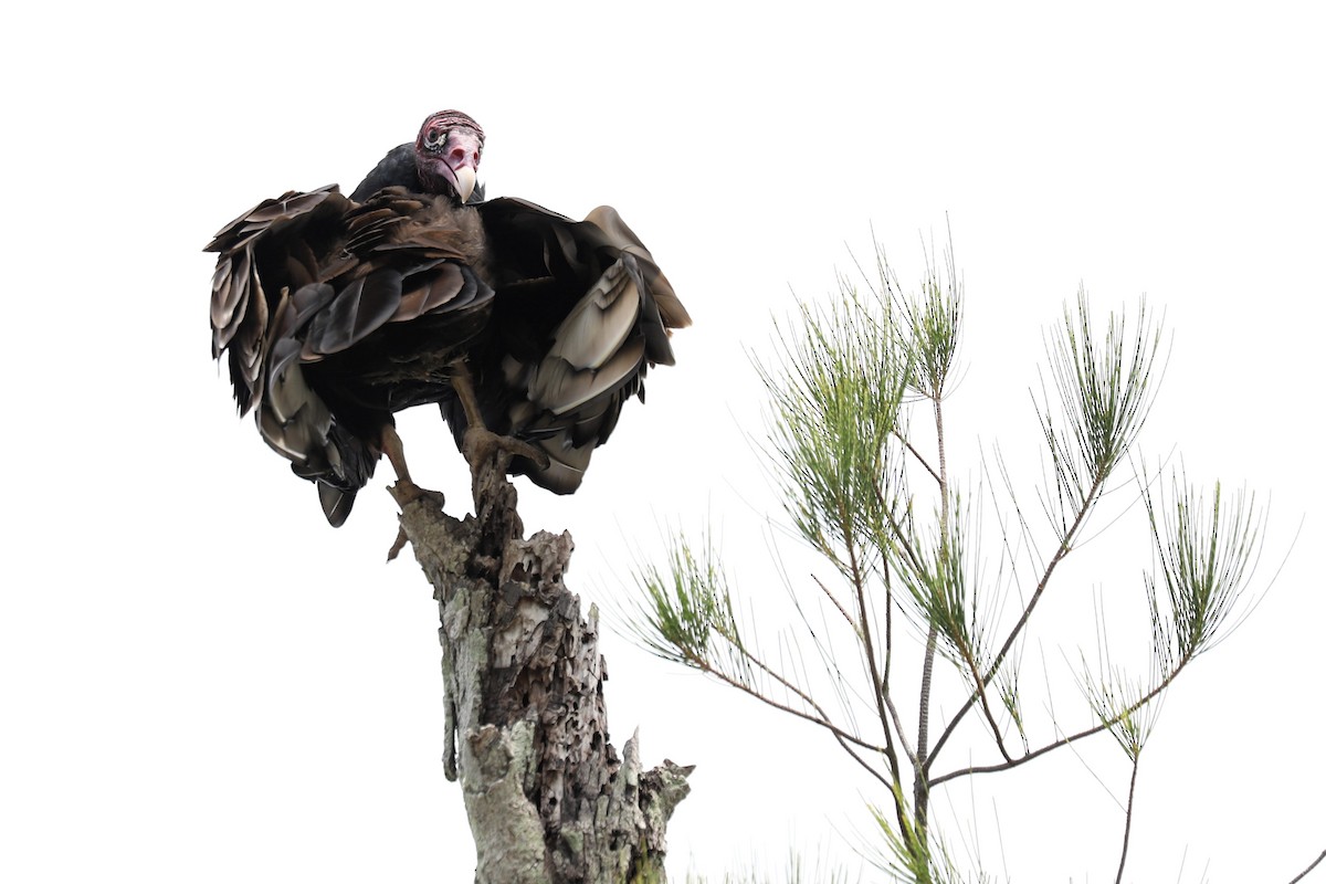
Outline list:
[[[941,245],[951,224],[967,372],[949,464],[971,488],[977,443],[998,441],[1033,508],[1042,330],[1079,281],[1101,315],[1146,293],[1174,349],[1144,451],[1270,502],[1256,590],[1303,530],[1166,704],[1127,877],[1288,881],[1326,847],[1322,13],[866,7],[8,13],[0,879],[471,879],[431,590],[411,561],[382,565],[390,469],[347,526],[324,524],[235,419],[199,252],[264,197],[349,190],[442,107],[487,129],[489,195],[573,216],[611,203],[695,318],[577,496],[522,484],[526,526],[573,533],[573,587],[603,608],[633,592],[633,549],[656,555],[663,526],[711,516],[761,622],[785,622],[745,351],[768,347],[792,290],[829,293],[871,225],[910,284],[922,237]],[[436,412],[402,432],[415,477],[467,506]],[[1094,592],[1116,655],[1136,649],[1150,554],[1138,522],[1116,530],[1038,610],[1029,688],[1042,652],[1062,668],[1090,640]],[[800,587],[823,573],[778,546]],[[780,868],[789,843],[850,863],[834,832],[867,831],[865,802],[886,797],[825,734],[610,630],[602,649],[614,742],[639,726],[647,766],[699,766],[670,828],[675,876]],[[1074,700],[1055,709],[1082,725]],[[940,814],[976,820],[1001,880],[1113,880],[1123,814],[1095,777],[1122,799],[1127,765],[1099,740],[959,781]]]

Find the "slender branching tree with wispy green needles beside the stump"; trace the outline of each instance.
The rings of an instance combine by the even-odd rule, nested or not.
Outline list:
[[[1000,463],[1016,518],[1000,517],[1000,574],[1006,577],[991,584],[977,567],[980,506],[949,478],[945,453],[944,408],[961,342],[964,297],[952,250],[943,266],[927,260],[915,296],[903,294],[878,250],[876,272],[878,285],[867,282],[867,294],[839,278],[830,301],[801,304],[796,322],[777,326],[780,355],[772,364],[756,366],[769,392],[766,453],[782,506],[794,531],[837,571],[837,583],[813,580],[821,600],[831,604],[826,618],[814,619],[796,598],[837,708],[821,698],[822,687],[809,680],[804,661],[789,664],[784,656],[801,647],[798,639],[780,639],[773,660],[761,656],[754,630],[749,643],[743,640],[719,554],[708,541],[696,551],[679,535],[666,569],[640,571],[647,602],[634,628],[655,653],[826,729],[887,795],[887,810],[871,807],[883,839],[875,859],[899,880],[964,880],[932,832],[932,790],[976,773],[1010,770],[1109,732],[1132,761],[1122,875],[1138,758],[1155,728],[1159,701],[1179,672],[1246,614],[1240,615],[1238,602],[1256,565],[1261,520],[1242,494],[1231,505],[1219,484],[1208,508],[1187,484],[1175,482],[1167,502],[1151,490],[1150,478],[1138,477],[1159,563],[1158,575],[1144,579],[1154,645],[1150,672],[1130,677],[1105,663],[1091,675],[1083,664],[1075,675],[1094,724],[1071,733],[1055,720],[1052,736],[1033,749],[1018,691],[1017,648],[1055,569],[1074,551],[1136,443],[1160,375],[1162,329],[1144,301],[1135,322],[1123,311],[1110,313],[1103,334],[1085,290],[1078,292],[1075,310],[1065,306],[1062,322],[1046,338],[1050,390],[1042,379],[1034,398],[1052,465],[1049,486],[1040,496],[1054,534],[1053,553],[1040,558],[1041,547]],[[910,433],[919,417],[934,421],[932,451],[923,452],[927,445],[918,445]],[[918,516],[924,510],[934,518]],[[1005,622],[1001,614],[1013,600]],[[904,689],[894,667],[895,614],[924,636],[920,684],[908,697],[919,712],[914,729],[895,704]],[[846,628],[857,647],[835,643],[830,627]],[[939,704],[939,713],[931,701],[936,655],[953,667],[967,692]],[[854,663],[859,669],[853,671]],[[965,763],[941,771],[936,759],[973,710],[993,744],[985,749],[992,761],[977,765],[969,754]],[[941,717],[934,746],[932,714]],[[975,880],[985,877],[977,871]]]

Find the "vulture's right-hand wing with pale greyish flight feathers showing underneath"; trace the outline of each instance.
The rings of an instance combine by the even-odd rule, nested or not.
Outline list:
[[[691,318],[648,249],[601,207],[573,221],[533,203],[476,207],[496,289],[491,331],[471,357],[489,429],[548,452],[513,463],[544,488],[574,492],[644,375],[672,364],[671,329]],[[465,420],[444,403],[457,443]]]

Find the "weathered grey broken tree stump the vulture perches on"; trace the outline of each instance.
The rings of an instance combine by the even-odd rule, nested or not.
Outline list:
[[[464,521],[438,496],[392,489],[442,618],[444,766],[464,794],[475,881],[666,881],[667,822],[693,767],[642,771],[636,737],[618,757],[598,612],[582,618],[562,582],[570,534],[525,539],[501,467],[476,469],[477,516]]]

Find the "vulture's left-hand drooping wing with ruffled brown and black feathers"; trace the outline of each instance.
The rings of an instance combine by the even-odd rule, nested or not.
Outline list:
[[[451,396],[448,367],[487,326],[483,228],[444,196],[289,192],[208,244],[212,355],[235,400],[339,525],[391,414]]]

